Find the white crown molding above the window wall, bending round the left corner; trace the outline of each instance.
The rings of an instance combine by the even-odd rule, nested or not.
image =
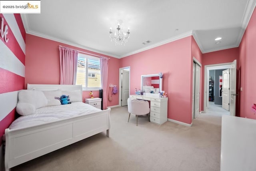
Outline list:
[[[54,37],[49,36],[47,34],[41,34],[39,32],[34,32],[34,31],[30,30],[30,27],[29,27],[30,25],[29,25],[27,14],[21,14],[21,18],[22,18],[22,22],[24,24],[25,31],[26,31],[27,34],[31,34],[31,35],[38,36],[38,37],[41,37],[41,38],[46,38],[46,39],[53,40],[53,41],[56,41],[56,42],[68,44],[70,46],[75,46],[77,48],[82,48],[84,50],[89,50],[91,52],[96,52],[96,53],[103,54],[103,55],[106,55],[106,56],[111,56],[111,57],[114,57],[114,58],[120,58],[120,56],[116,56],[114,54],[108,54],[108,53],[105,53],[105,52],[98,51],[96,49],[88,48],[86,46],[81,46],[80,44],[76,44],[76,43],[73,43],[73,42],[69,42],[69,41],[65,41],[65,40],[62,40],[62,39],[54,38]]]

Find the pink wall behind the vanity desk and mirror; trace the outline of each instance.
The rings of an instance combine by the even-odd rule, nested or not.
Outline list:
[[[168,118],[190,124],[191,37],[121,58],[120,67],[130,66],[130,89],[140,87],[140,76],[162,72],[168,95]],[[182,107],[181,107],[182,106]]]

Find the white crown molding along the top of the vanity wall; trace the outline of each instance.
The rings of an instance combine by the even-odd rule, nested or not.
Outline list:
[[[182,39],[182,38],[186,38],[186,37],[191,36],[191,35],[192,35],[192,30],[191,30],[191,31],[188,31],[188,32],[185,32],[185,33],[183,33],[183,34],[180,34],[180,35],[178,35],[178,36],[174,36],[174,37],[172,37],[172,38],[168,38],[168,39],[163,40],[163,41],[161,41],[161,42],[157,42],[157,43],[152,44],[152,45],[150,45],[150,46],[147,46],[147,47],[145,47],[145,48],[141,48],[141,49],[135,50],[135,51],[130,52],[130,53],[128,53],[128,54],[124,54],[124,55],[122,55],[122,56],[120,56],[120,57],[121,57],[121,58],[124,58],[124,57],[126,57],[126,56],[130,56],[130,55],[133,55],[133,54],[137,54],[137,53],[139,53],[139,52],[142,52],[142,51],[145,51],[145,50],[149,50],[149,49],[155,48],[155,47],[157,47],[157,46],[161,46],[161,45],[163,45],[163,44],[167,44],[167,43],[170,43],[170,42],[174,42],[174,41],[176,41],[176,40],[179,40],[179,39]]]

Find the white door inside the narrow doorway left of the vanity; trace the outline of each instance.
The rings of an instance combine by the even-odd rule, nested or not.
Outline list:
[[[129,97],[129,80],[130,80],[130,71],[122,70],[122,97],[121,97],[121,106],[127,105],[127,99]]]

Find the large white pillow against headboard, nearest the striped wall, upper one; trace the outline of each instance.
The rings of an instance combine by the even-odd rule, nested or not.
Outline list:
[[[48,100],[44,93],[39,90],[23,89],[18,93],[18,102],[30,103],[35,106],[36,109],[47,105]]]

